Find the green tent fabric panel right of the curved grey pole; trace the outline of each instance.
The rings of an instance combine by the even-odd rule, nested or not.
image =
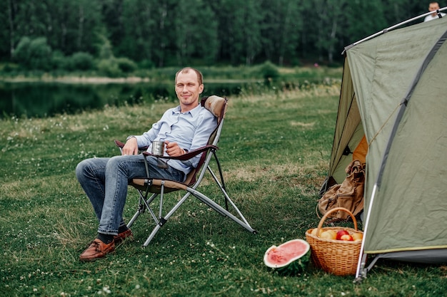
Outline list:
[[[447,248],[446,57],[444,43],[403,114],[383,170],[386,182],[373,204],[378,209],[371,212],[374,224],[366,236],[367,254]],[[378,232],[386,239],[371,240]]]

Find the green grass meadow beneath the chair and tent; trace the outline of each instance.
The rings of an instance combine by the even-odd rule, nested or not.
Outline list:
[[[381,260],[354,284],[312,266],[280,276],[263,265],[269,246],[303,239],[319,222],[338,90],[231,98],[218,154],[228,192],[258,234],[191,199],[147,248],[141,218],[134,241],[94,263],[78,260],[97,222],[74,168],[116,155],[114,139],[149,128],[171,104],[1,120],[0,296],[445,296],[446,266]],[[204,192],[214,191],[205,181]],[[126,218],[135,204],[130,192]]]

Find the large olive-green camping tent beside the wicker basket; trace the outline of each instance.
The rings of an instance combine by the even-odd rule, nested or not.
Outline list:
[[[364,135],[364,238],[357,277],[366,276],[379,258],[447,262],[446,38],[447,17],[384,30],[343,52],[321,193],[343,182]]]

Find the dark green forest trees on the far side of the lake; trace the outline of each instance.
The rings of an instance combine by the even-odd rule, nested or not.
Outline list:
[[[0,70],[341,65],[345,46],[427,12],[428,2],[5,0]]]

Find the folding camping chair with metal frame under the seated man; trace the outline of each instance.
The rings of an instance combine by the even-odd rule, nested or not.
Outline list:
[[[151,214],[151,217],[155,222],[155,227],[151,231],[148,239],[146,239],[146,241],[144,242],[143,246],[147,246],[149,244],[149,242],[154,238],[161,226],[164,226],[164,224],[166,224],[168,219],[174,214],[174,212],[176,212],[177,209],[179,209],[179,207],[181,207],[181,204],[183,204],[191,194],[194,197],[198,198],[201,202],[204,202],[204,204],[211,207],[211,209],[214,209],[219,214],[222,214],[224,217],[229,217],[248,231],[256,233],[256,230],[251,228],[245,217],[243,217],[243,214],[239,211],[238,207],[236,207],[236,204],[234,204],[228,196],[225,189],[224,176],[222,174],[221,165],[216,155],[216,150],[218,150],[218,147],[216,145],[219,142],[219,137],[224,125],[224,116],[226,113],[227,104],[228,102],[226,98],[221,98],[216,95],[203,98],[201,100],[201,105],[211,111],[214,116],[216,116],[218,123],[216,130],[211,133],[208,144],[204,147],[200,147],[199,149],[186,152],[186,154],[179,157],[163,157],[164,159],[189,160],[191,159],[191,157],[201,154],[199,165],[186,176],[185,182],[182,183],[169,179],[150,178],[147,166],[146,177],[132,179],[131,182],[129,182],[129,185],[136,188],[139,193],[139,208],[134,214],[134,217],[131,218],[127,226],[130,228],[130,226],[134,224],[139,215],[146,212],[146,210],[149,212],[149,214]],[[116,145],[120,147],[120,149],[124,146],[124,143],[122,142],[119,142],[117,140],[115,142]],[[141,150],[144,149],[145,148],[141,148]],[[142,154],[145,158],[151,156],[151,153],[146,151],[143,151]],[[216,162],[217,168],[219,170],[219,178],[216,176],[216,174],[214,174],[213,170],[211,170],[210,162],[212,159],[214,159],[214,161]],[[214,181],[216,182],[217,187],[219,187],[221,192],[224,194],[225,208],[221,207],[221,205],[218,204],[215,199],[207,197],[205,194],[199,192],[199,190],[197,189],[206,172],[209,172],[211,174]],[[164,214],[164,194],[179,190],[186,191],[186,194],[181,197],[179,202],[177,202],[174,207],[169,210],[169,212]],[[151,193],[150,196],[149,193]],[[156,203],[153,203],[157,197],[159,197],[158,216],[156,215],[157,205]],[[235,212],[237,215],[229,212],[228,204],[231,205],[233,209],[232,212]]]

